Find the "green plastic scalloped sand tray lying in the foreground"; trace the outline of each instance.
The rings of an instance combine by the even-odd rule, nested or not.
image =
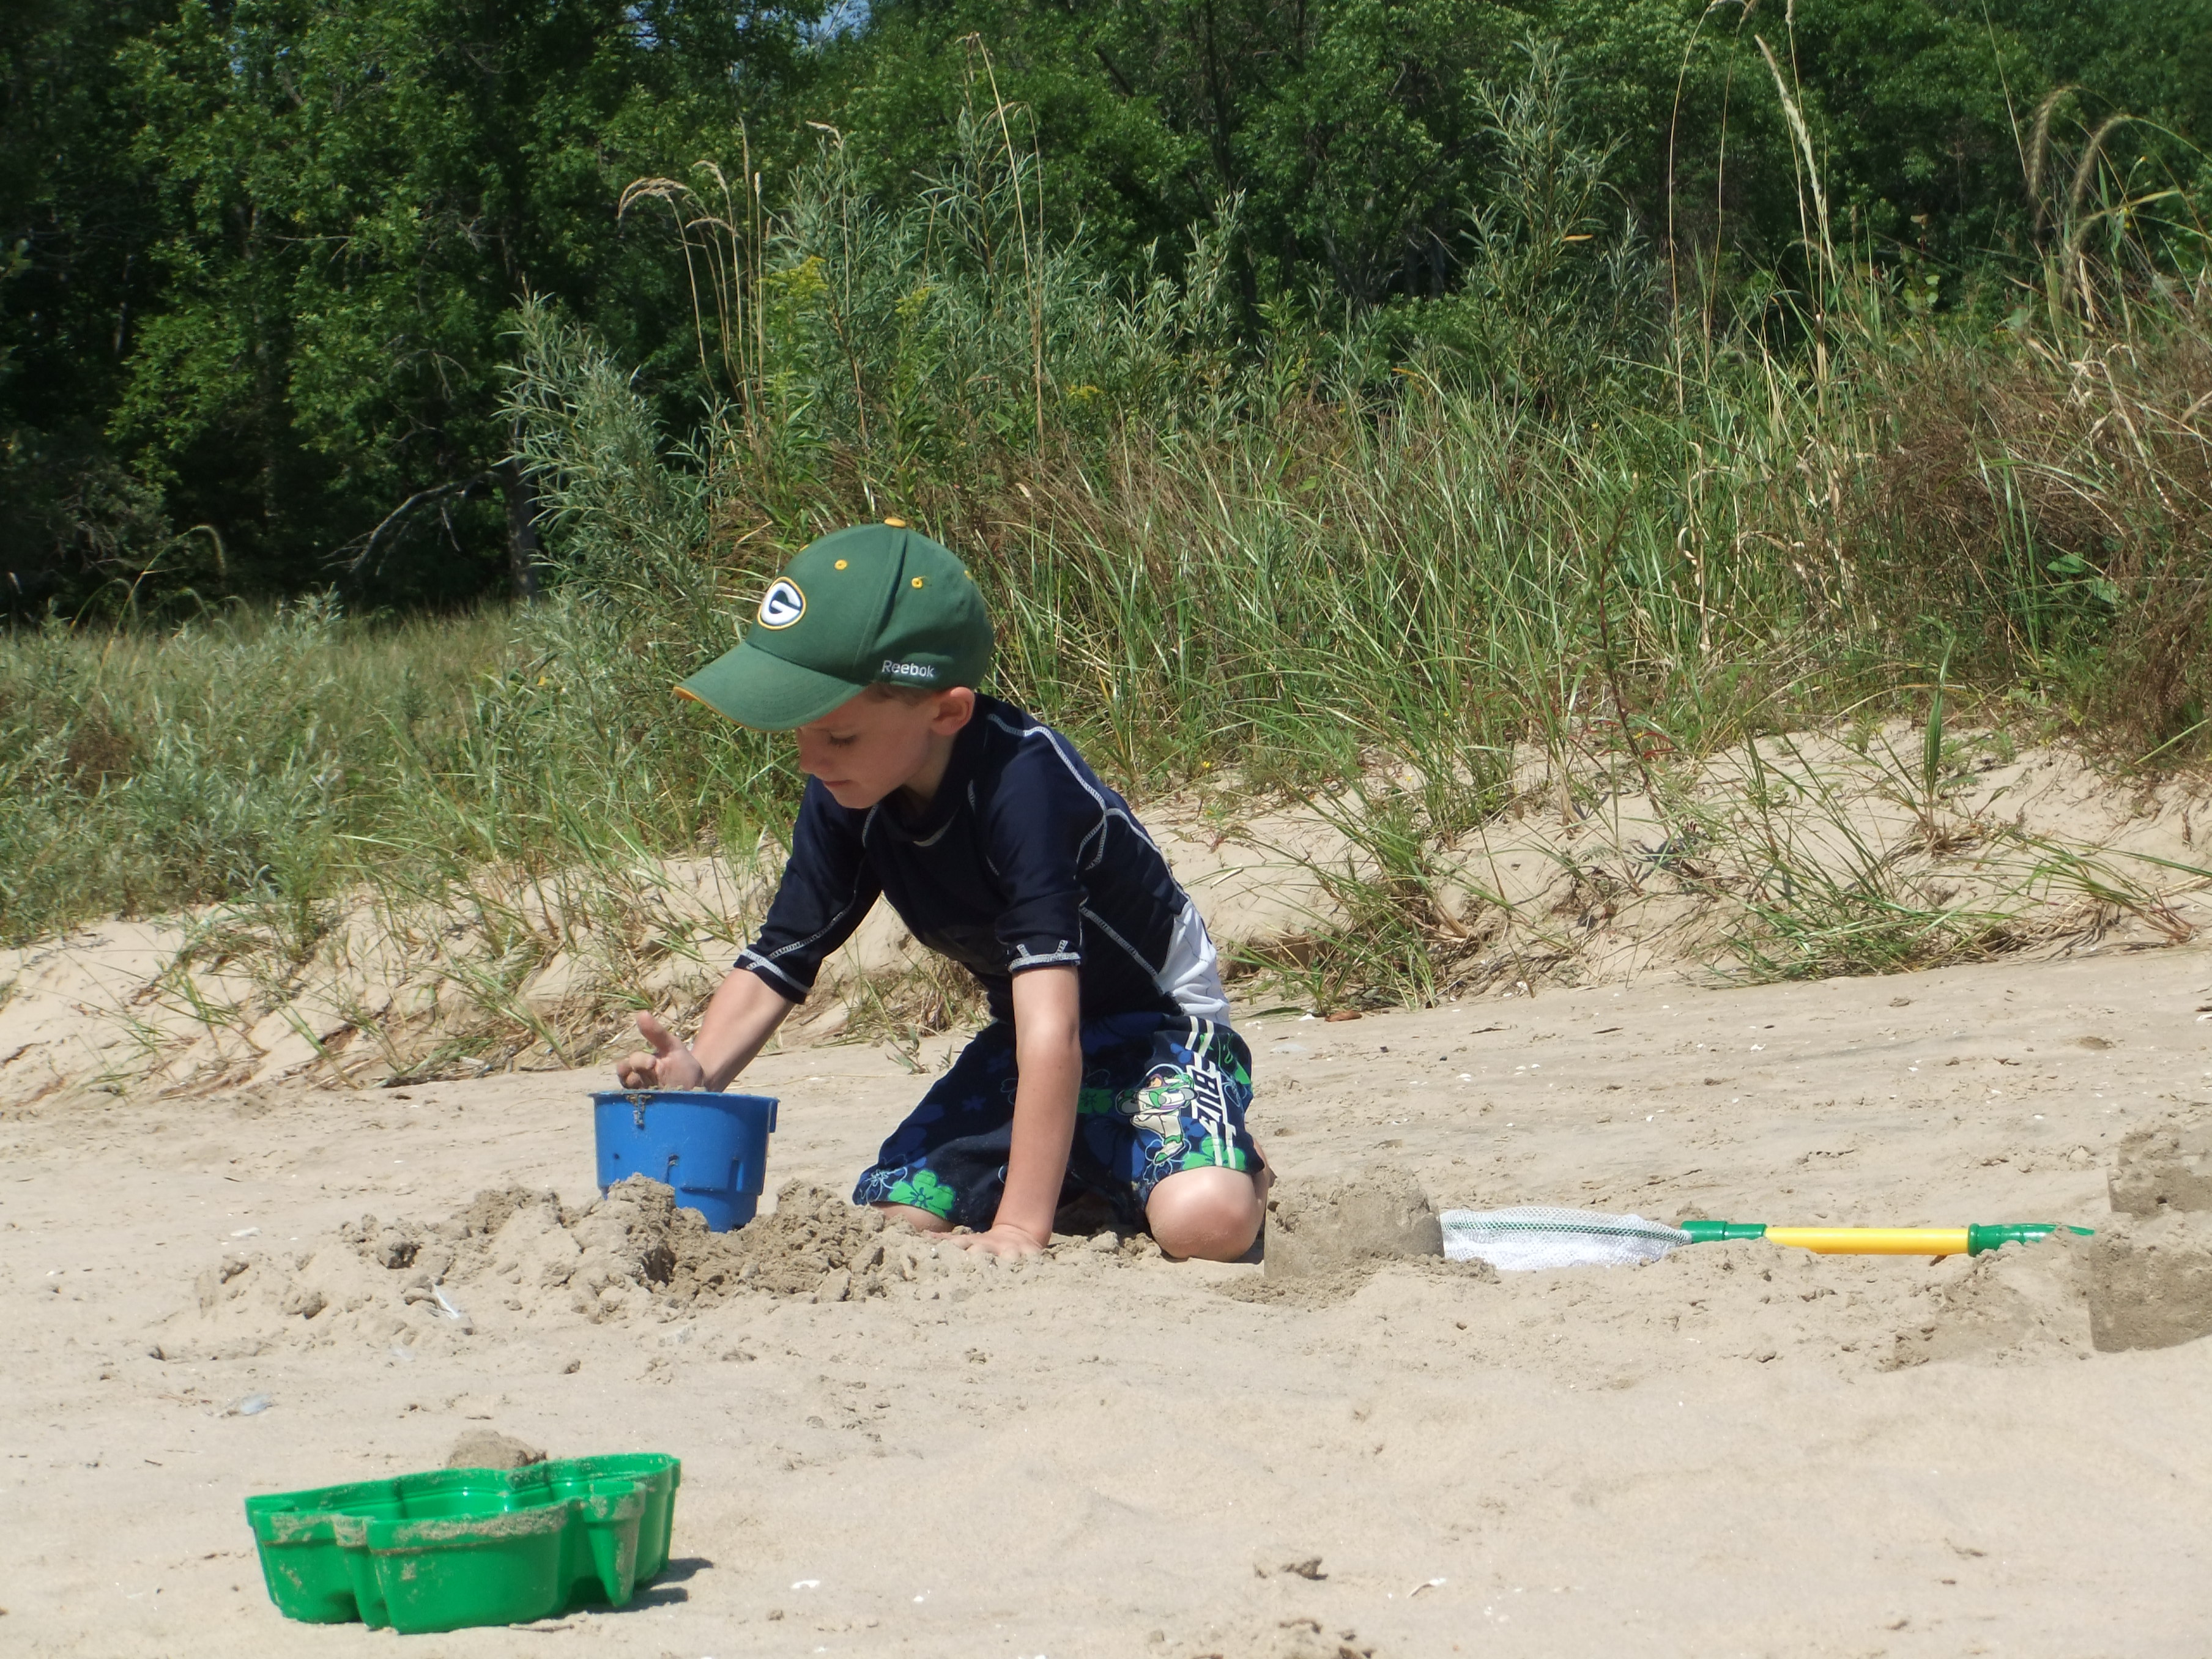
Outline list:
[[[246,1500],[270,1601],[414,1635],[622,1606],[668,1566],[684,1464],[655,1451],[440,1469]]]

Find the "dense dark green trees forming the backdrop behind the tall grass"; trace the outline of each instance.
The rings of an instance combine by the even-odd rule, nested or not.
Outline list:
[[[670,429],[712,396],[644,175],[748,168],[768,201],[832,126],[898,208],[982,102],[1033,115],[1035,204],[1113,292],[1223,250],[1239,372],[1301,330],[1482,358],[1484,223],[1526,170],[1484,86],[1555,51],[1588,201],[1657,254],[1648,323],[1803,288],[1803,104],[1836,237],[1940,310],[2008,307],[2035,124],[2192,188],[2212,0],[51,0],[0,18],[0,597],[18,619],[513,588],[504,330],[557,301]],[[1234,234],[1228,234],[1234,230]],[[1575,232],[1584,234],[1584,232]],[[1595,232],[1588,232],[1595,234]],[[1624,268],[1626,270],[1626,268]],[[1433,314],[1431,314],[1433,312]],[[1285,345],[1287,341],[1287,345]]]

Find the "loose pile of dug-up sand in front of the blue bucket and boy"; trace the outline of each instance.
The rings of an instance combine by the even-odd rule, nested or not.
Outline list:
[[[487,1188],[442,1221],[365,1214],[294,1252],[223,1256],[195,1307],[159,1329],[161,1358],[243,1358],[272,1347],[449,1347],[478,1329],[677,1318],[732,1296],[821,1303],[962,1301],[1031,1270],[1115,1267],[1159,1248],[1099,1232],[1037,1263],[1002,1265],[938,1243],[836,1192],[790,1181],[737,1232],[641,1175],[582,1210],[549,1190]]]

